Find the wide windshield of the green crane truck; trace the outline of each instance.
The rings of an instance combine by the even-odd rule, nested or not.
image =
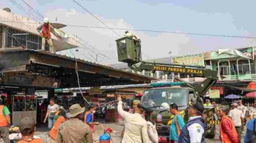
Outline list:
[[[158,88],[144,91],[142,105],[146,108],[169,108],[171,103],[176,103],[179,110],[186,108],[187,93],[183,88]]]

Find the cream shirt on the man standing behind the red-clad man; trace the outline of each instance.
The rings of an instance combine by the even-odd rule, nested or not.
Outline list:
[[[235,127],[240,127],[242,125],[241,118],[245,118],[242,111],[238,110],[238,108],[230,110],[228,116],[233,120]]]

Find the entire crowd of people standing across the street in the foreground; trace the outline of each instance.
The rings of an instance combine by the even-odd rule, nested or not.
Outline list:
[[[242,140],[241,135],[245,133],[244,142],[250,143],[256,141],[256,101],[253,106],[248,109],[242,105],[242,101],[235,101],[231,104],[231,110],[225,105],[218,106],[215,103],[210,103],[206,100],[203,104],[198,101],[188,103],[188,122],[184,122],[183,117],[178,112],[178,105],[171,103],[169,105],[170,113],[173,115],[170,125],[163,125],[149,118],[153,110],[145,108],[140,101],[134,100],[132,109],[124,110],[122,98],[117,97],[117,111],[124,119],[124,130],[122,134],[122,143],[156,143],[159,142],[157,130],[169,131],[169,139],[171,143],[186,143],[186,142],[206,142],[207,127],[203,118],[205,107],[214,107],[220,121],[220,141],[224,143],[232,142],[239,143]],[[96,107],[91,106],[85,112],[79,104],[71,105],[69,113],[65,109],[55,104],[53,99],[50,99],[45,121],[48,120],[50,129],[50,143],[60,142],[95,142],[93,133],[95,125],[100,122],[94,122],[93,114]],[[248,112],[249,111],[249,112]],[[247,113],[249,113],[247,115]],[[0,99],[0,142],[9,141],[9,126],[11,120],[10,112]],[[245,132],[246,118],[250,118],[247,122],[247,130]],[[36,131],[36,121],[33,118],[23,118],[19,125],[21,139],[18,143],[39,143],[42,139],[35,139],[34,132]]]

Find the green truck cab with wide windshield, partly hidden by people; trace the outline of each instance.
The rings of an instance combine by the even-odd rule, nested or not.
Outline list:
[[[196,98],[192,88],[181,86],[157,87],[144,91],[141,103],[146,108],[154,110],[151,118],[156,122],[156,125],[159,123],[170,125],[174,115],[170,113],[169,105],[176,103],[179,113],[184,118],[184,121],[187,122],[188,114],[186,109],[191,98]],[[157,130],[157,132],[159,142],[169,142],[169,132],[167,130]]]

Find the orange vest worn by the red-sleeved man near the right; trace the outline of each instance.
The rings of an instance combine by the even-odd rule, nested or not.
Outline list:
[[[234,125],[233,121],[230,118],[228,118],[228,117],[224,117],[220,121],[220,139],[221,139],[221,141],[223,143],[233,143],[233,142],[231,142],[230,138],[228,137],[228,134],[223,130],[223,127],[221,125],[221,122],[223,122],[224,119],[228,120],[229,122],[231,122],[231,124],[232,124],[232,132],[235,134],[235,136],[238,137],[238,132],[235,130],[235,125]]]

